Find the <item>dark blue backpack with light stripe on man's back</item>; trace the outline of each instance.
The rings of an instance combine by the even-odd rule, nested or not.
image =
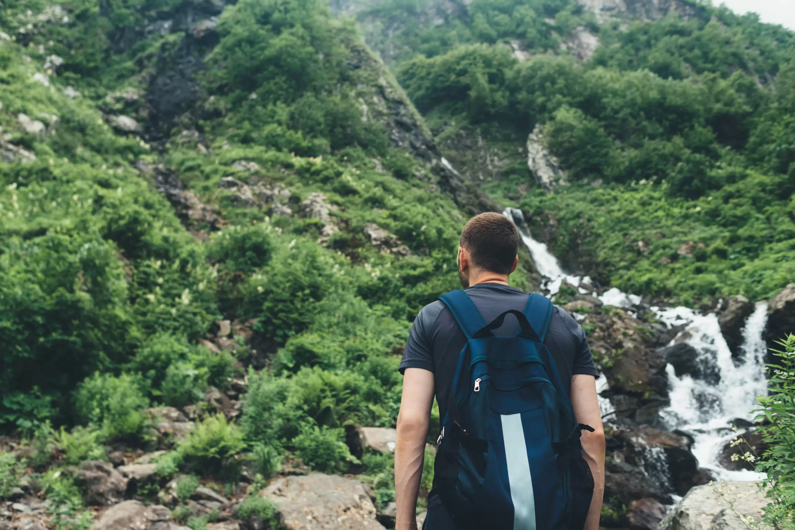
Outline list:
[[[580,430],[543,341],[553,304],[487,324],[461,290],[440,300],[467,337],[442,421],[433,493],[461,530],[582,530],[593,492]],[[507,315],[515,337],[496,337]],[[562,369],[562,368],[561,368]],[[565,368],[568,372],[568,366]]]

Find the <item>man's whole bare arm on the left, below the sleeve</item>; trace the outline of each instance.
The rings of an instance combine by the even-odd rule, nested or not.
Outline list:
[[[433,373],[421,368],[405,369],[395,443],[396,530],[417,528],[417,494],[432,404]]]

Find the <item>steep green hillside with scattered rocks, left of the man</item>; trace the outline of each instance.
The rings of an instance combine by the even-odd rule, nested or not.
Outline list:
[[[0,30],[0,429],[27,439],[0,496],[32,470],[23,494],[79,525],[119,500],[95,461],[162,448],[128,497],[184,473],[258,493],[284,459],[386,505],[389,458],[346,436],[394,424],[410,322],[494,204],[354,25],[311,0],[26,0]],[[160,502],[217,516],[186,499]]]

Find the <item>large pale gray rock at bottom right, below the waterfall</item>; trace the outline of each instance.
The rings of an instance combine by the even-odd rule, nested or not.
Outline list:
[[[762,522],[761,515],[767,503],[765,493],[759,492],[755,482],[698,486],[665,516],[659,530],[767,530],[770,527]]]

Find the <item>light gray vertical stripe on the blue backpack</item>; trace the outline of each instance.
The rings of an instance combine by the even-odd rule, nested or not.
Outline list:
[[[536,530],[536,503],[533,497],[533,478],[527,459],[525,430],[521,414],[507,414],[502,418],[502,439],[508,463],[510,498],[514,501],[514,530]]]

